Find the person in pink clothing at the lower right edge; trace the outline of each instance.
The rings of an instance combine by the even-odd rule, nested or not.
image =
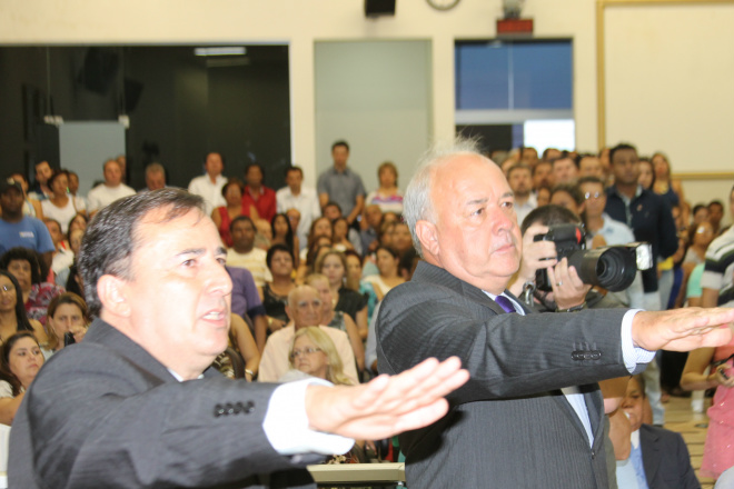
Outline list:
[[[731,305],[731,303],[730,303]],[[726,469],[734,467],[734,341],[723,347],[700,348],[688,353],[681,376],[685,390],[716,389],[708,408],[708,431],[701,460],[702,477],[716,479]],[[711,370],[706,373],[706,368]]]

